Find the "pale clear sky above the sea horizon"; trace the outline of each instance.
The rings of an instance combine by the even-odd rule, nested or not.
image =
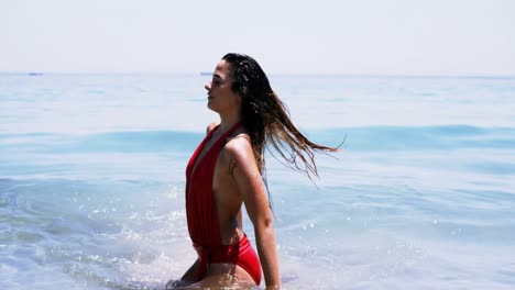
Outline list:
[[[515,76],[515,0],[0,0],[0,71]]]

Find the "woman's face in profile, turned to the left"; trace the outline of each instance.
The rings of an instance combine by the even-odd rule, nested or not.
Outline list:
[[[208,108],[219,114],[239,111],[241,97],[231,87],[231,65],[222,59],[215,68],[212,79],[205,86],[208,91]]]

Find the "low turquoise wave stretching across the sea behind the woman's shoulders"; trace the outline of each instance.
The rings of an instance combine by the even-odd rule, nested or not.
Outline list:
[[[342,144],[342,149],[349,150],[515,148],[515,127],[362,126],[306,130],[305,133],[316,143],[328,146]],[[89,135],[0,134],[0,149],[39,153],[191,153],[204,136],[198,132],[179,131],[128,131]]]

